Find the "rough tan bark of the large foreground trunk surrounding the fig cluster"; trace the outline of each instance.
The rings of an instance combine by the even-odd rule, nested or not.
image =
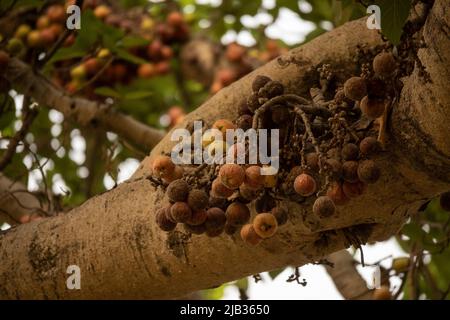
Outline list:
[[[437,1],[425,27],[427,48],[422,64],[433,84],[416,74],[405,79],[399,105],[391,114],[388,146],[378,159],[382,178],[362,197],[320,221],[303,217],[311,204],[284,203],[290,220],[277,235],[256,248],[239,237],[188,236],[182,230],[165,233],[154,224],[163,192],[146,180],[150,158],[129,181],[96,196],[68,214],[33,222],[0,236],[0,297],[2,298],[174,298],[257,272],[303,265],[349,245],[346,234],[367,235],[370,241],[395,234],[410,212],[424,200],[450,189],[450,104],[443,69],[448,70],[448,13]],[[442,38],[442,39],[441,39]],[[446,39],[446,38],[445,38]],[[444,39],[444,40],[445,40]],[[202,118],[234,119],[241,99],[251,92],[257,74],[280,80],[289,92],[306,96],[311,70],[322,63],[354,72],[352,56],[358,44],[379,45],[376,31],[365,21],[341,28],[292,50],[297,63],[268,63],[220,91],[186,122]],[[443,46],[447,46],[444,48]],[[414,86],[415,91],[411,89]],[[417,94],[420,87],[421,94]],[[425,90],[425,91],[422,91]],[[409,131],[408,131],[409,130]],[[447,137],[447,139],[445,139]],[[152,155],[169,151],[168,135]],[[418,147],[427,147],[425,154]],[[411,151],[412,150],[412,151]],[[429,151],[429,152],[428,152]],[[436,174],[436,168],[441,168]],[[311,215],[309,215],[311,216]],[[66,289],[68,265],[81,268],[81,290]]]

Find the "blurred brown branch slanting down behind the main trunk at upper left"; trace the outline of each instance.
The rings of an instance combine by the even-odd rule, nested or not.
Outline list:
[[[15,90],[29,95],[40,105],[62,112],[79,125],[92,125],[117,133],[143,150],[151,150],[163,137],[160,130],[124,115],[110,105],[70,97],[19,59],[10,59],[4,77]]]

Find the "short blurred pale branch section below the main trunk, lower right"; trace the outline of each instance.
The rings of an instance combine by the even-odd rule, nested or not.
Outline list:
[[[333,263],[333,267],[327,265],[325,269],[344,299],[372,299],[372,291],[367,288],[366,281],[359,274],[355,261],[347,250],[332,253],[327,260]]]

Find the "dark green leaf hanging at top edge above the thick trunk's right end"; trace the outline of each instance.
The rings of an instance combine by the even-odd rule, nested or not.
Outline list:
[[[393,44],[400,42],[403,26],[411,9],[410,0],[377,0],[381,10],[381,31]]]

